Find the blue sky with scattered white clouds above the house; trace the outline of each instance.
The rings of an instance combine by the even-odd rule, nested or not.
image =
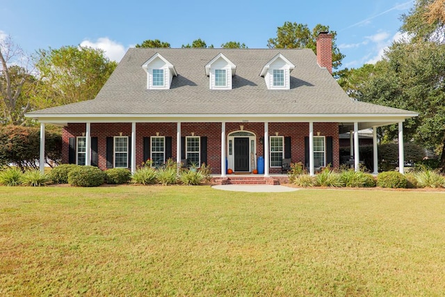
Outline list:
[[[314,4],[316,3],[316,6]],[[414,0],[203,1],[203,0],[0,0],[0,38],[11,35],[29,54],[48,47],[100,47],[120,61],[147,39],[181,47],[201,38],[207,45],[234,40],[266,48],[284,22],[330,26],[346,55],[343,67],[375,63],[400,38],[400,16]]]

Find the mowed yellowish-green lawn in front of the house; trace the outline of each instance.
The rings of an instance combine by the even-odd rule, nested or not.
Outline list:
[[[0,296],[443,296],[445,193],[0,187]]]

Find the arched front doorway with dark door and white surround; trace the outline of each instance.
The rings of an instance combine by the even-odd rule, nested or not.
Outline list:
[[[257,168],[257,136],[250,131],[234,131],[227,136],[228,168],[252,172]]]

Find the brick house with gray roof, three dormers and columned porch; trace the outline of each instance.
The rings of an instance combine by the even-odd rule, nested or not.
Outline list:
[[[47,123],[63,126],[63,163],[103,170],[134,172],[147,159],[172,158],[207,163],[221,176],[227,168],[252,172],[264,163],[268,176],[291,158],[314,175],[317,166],[339,166],[345,131],[354,131],[357,169],[357,131],[394,123],[403,162],[403,121],[417,114],[348,97],[332,77],[331,48],[331,35],[321,33],[317,55],[311,49],[129,49],[95,99],[26,116],[41,131]]]

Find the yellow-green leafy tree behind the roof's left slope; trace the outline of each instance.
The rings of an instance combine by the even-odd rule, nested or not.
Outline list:
[[[47,106],[94,99],[117,63],[102,49],[60,47],[40,49],[36,67],[42,79],[39,101]]]

